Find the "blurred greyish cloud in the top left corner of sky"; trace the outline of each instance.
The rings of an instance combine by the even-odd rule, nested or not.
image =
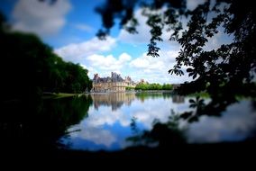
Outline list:
[[[13,28],[41,36],[54,34],[66,23],[65,15],[70,9],[68,0],[58,0],[53,4],[48,1],[20,0],[14,6]]]

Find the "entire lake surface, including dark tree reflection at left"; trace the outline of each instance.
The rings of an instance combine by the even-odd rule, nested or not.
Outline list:
[[[191,124],[173,120],[187,111],[188,100],[172,94],[130,93],[4,102],[1,148],[56,148],[62,144],[76,149],[122,149],[133,145],[126,140],[134,136],[133,118],[136,132],[148,131],[148,138],[159,140],[163,146],[184,142],[183,135],[188,143],[239,141],[255,136],[256,113],[251,101],[231,105],[222,117],[202,116]],[[180,131],[183,128],[186,131]]]

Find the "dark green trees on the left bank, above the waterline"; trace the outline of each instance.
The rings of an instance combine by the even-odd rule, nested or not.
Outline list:
[[[82,93],[91,89],[87,69],[63,61],[33,34],[10,31],[0,15],[0,68],[5,101],[43,92]]]

